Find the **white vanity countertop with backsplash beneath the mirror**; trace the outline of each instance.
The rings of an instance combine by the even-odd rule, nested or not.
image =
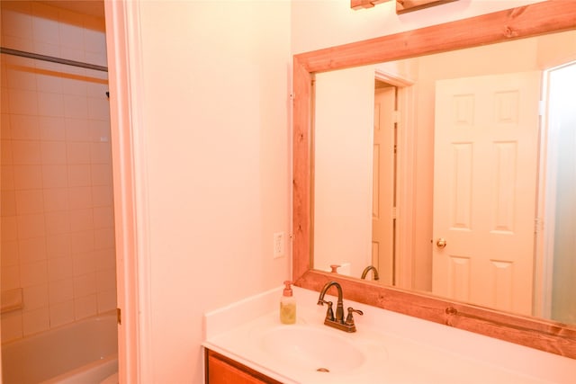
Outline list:
[[[287,384],[568,383],[576,371],[572,359],[344,299],[345,308],[364,311],[364,316],[355,315],[357,332],[347,334],[323,325],[326,307],[316,305],[318,292],[298,287],[297,322],[283,325],[281,292],[269,290],[207,313],[202,345]],[[344,360],[319,363],[304,359],[305,352],[266,349],[266,335],[286,330],[338,341],[334,359],[342,355]],[[363,357],[356,361],[354,351]]]

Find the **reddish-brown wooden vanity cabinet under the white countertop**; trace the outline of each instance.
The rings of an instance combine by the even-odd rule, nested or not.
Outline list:
[[[204,355],[206,384],[282,384],[220,353],[207,349]]]

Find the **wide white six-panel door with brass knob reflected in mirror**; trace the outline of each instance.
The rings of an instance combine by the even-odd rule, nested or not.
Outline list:
[[[541,74],[437,82],[435,294],[532,313]]]

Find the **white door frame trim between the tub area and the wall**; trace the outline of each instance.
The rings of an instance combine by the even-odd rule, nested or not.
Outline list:
[[[139,2],[104,2],[116,241],[119,382],[152,382]],[[138,128],[138,129],[136,129]],[[120,320],[120,319],[119,319]]]

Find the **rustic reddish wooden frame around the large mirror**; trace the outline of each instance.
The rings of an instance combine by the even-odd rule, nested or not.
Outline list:
[[[311,84],[314,73],[576,29],[576,2],[529,4],[293,57],[293,281],[320,291],[338,281],[346,299],[576,359],[576,326],[503,313],[311,269]]]

